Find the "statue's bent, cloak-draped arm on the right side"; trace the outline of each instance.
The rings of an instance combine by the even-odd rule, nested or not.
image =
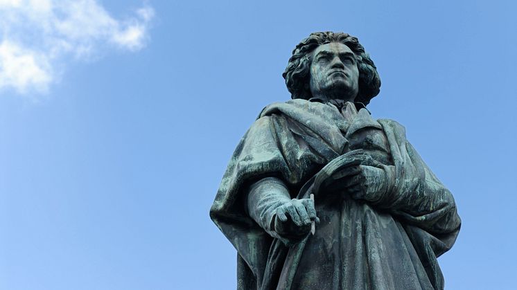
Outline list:
[[[387,136],[394,165],[362,166],[367,180],[362,196],[403,224],[417,226],[443,243],[442,252],[453,246],[461,220],[453,195],[431,172],[405,139],[405,130],[391,120],[379,120]],[[440,255],[441,253],[437,253]]]

